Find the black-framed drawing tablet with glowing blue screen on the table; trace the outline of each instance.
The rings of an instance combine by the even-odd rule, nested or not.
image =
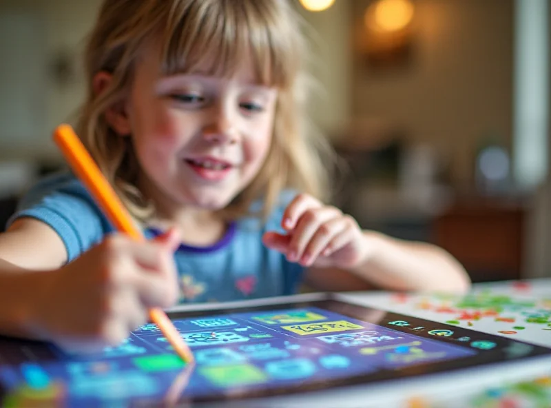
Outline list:
[[[305,295],[169,312],[194,352],[193,367],[171,352],[155,325],[93,356],[1,338],[3,406],[245,403],[551,355],[544,347],[339,299]]]

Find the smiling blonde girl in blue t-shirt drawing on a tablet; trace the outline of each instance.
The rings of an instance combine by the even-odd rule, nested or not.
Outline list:
[[[178,300],[464,291],[442,250],[315,198],[305,53],[289,1],[105,0],[77,133],[150,239],[114,233],[71,174],[41,181],[0,236],[1,331],[87,349]]]

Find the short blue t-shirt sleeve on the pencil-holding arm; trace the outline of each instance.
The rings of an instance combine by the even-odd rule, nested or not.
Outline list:
[[[72,174],[55,174],[34,185],[21,198],[8,225],[22,217],[49,225],[65,244],[67,261],[113,231],[93,198]]]

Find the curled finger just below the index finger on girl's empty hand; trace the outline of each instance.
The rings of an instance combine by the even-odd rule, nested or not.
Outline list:
[[[317,210],[311,209],[304,212],[291,235],[289,252],[287,252],[289,261],[299,261],[304,254],[306,245],[311,241],[320,225],[338,216],[341,216],[341,212],[335,207],[323,207]]]

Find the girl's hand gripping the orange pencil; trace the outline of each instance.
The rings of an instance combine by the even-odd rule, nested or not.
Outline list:
[[[178,236],[154,242],[116,234],[52,272],[35,303],[30,330],[67,351],[118,345],[147,323],[150,307],[178,298],[173,252]]]

